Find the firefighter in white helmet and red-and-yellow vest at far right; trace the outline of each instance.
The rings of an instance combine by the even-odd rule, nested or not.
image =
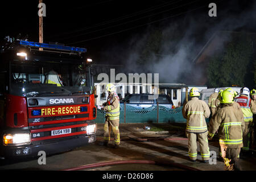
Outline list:
[[[240,105],[242,109],[243,119],[245,121],[242,154],[248,154],[249,151],[251,130],[253,129],[253,113],[255,113],[255,108],[251,102],[249,94],[250,90],[247,87],[243,87],[240,90],[240,96],[235,98],[235,101]]]

